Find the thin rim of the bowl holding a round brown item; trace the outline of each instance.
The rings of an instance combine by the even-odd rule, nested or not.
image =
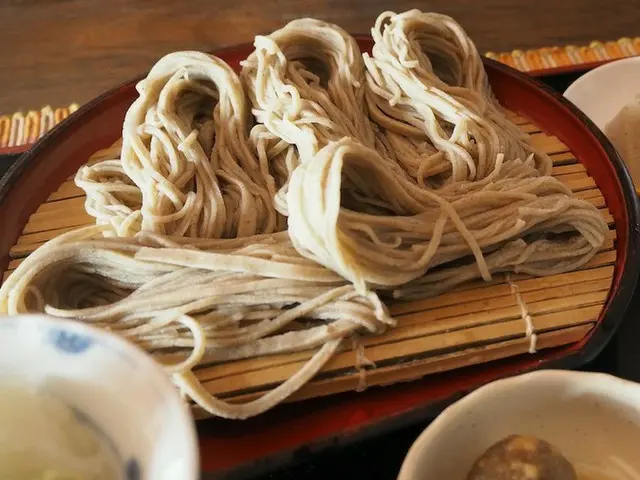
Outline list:
[[[481,386],[468,395],[462,397],[457,402],[449,405],[433,422],[425,427],[425,429],[411,444],[407,455],[402,461],[402,466],[400,467],[397,480],[413,480],[416,473],[415,466],[418,464],[418,460],[425,447],[427,447],[431,442],[437,441],[437,437],[444,430],[450,428],[455,422],[455,419],[459,418],[461,413],[467,411],[472,405],[480,404],[485,401],[487,397],[491,397],[507,387],[514,387],[517,385],[524,387],[526,384],[544,382],[545,380],[550,379],[565,379],[574,383],[608,382],[620,385],[621,387],[640,390],[639,383],[626,380],[609,373],[561,369],[534,370],[520,375],[494,380],[493,382]],[[609,398],[612,398],[612,400],[615,401],[622,398],[622,396],[610,396]],[[640,410],[640,405],[638,406],[638,410]]]

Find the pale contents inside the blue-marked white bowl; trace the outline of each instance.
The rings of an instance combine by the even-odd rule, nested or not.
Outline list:
[[[121,480],[107,441],[35,387],[0,387],[0,479]]]

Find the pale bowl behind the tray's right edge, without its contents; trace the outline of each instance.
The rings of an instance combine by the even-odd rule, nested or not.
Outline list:
[[[630,57],[585,73],[564,96],[604,132],[607,123],[639,93],[640,57]]]

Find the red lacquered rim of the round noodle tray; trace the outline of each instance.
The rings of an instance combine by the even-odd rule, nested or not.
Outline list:
[[[356,36],[369,51],[368,36]],[[250,44],[216,53],[237,68]],[[622,321],[640,272],[640,205],[629,173],[597,127],[556,92],[504,64],[484,59],[501,103],[546,127],[587,168],[602,191],[617,229],[612,289],[596,327],[580,342],[505,360],[429,375],[411,383],[370,388],[276,407],[243,422],[198,425],[205,476],[256,474],[337,443],[432,418],[449,403],[489,381],[538,368],[577,368],[591,361]],[[142,77],[140,77],[142,78]],[[125,112],[137,97],[127,82],[89,102],[39,140],[0,180],[0,271],[29,216],[98,148],[120,136]]]

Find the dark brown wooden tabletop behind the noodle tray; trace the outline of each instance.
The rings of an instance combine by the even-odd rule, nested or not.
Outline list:
[[[629,0],[0,0],[0,113],[83,103],[167,52],[249,42],[301,16],[366,32],[389,8],[452,15],[482,51],[640,35]]]

